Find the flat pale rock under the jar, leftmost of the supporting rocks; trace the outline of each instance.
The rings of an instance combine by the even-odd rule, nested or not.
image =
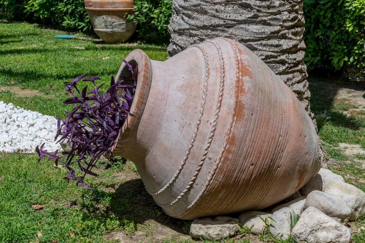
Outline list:
[[[191,223],[190,235],[194,238],[222,239],[238,231],[238,219],[226,216],[195,219]]]

